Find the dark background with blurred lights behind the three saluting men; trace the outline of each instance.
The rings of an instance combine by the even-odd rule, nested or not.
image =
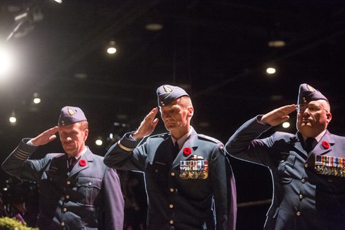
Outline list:
[[[22,12],[28,17],[14,21]],[[162,84],[184,87],[195,107],[193,127],[226,143],[256,114],[296,103],[299,84],[309,83],[331,101],[329,130],[344,135],[344,14],[344,1],[1,0],[0,43],[14,50],[17,67],[0,79],[0,162],[21,138],[56,125],[65,105],[83,109],[87,145],[104,155],[110,133],[137,128],[157,106]],[[163,28],[146,30],[148,23]],[[270,48],[272,39],[286,45]],[[111,40],[114,56],[105,52]],[[273,76],[265,74],[268,65],[277,68]],[[16,125],[8,122],[12,111]],[[288,129],[270,132],[295,133],[295,115]],[[61,151],[59,141],[35,156],[48,151]],[[238,229],[262,229],[269,202],[246,205],[271,198],[269,171],[236,159],[232,165]],[[1,185],[6,178],[1,172]]]

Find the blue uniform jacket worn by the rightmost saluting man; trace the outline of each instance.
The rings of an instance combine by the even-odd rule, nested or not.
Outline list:
[[[315,156],[344,158],[345,138],[326,131],[308,153],[298,133],[255,139],[269,128],[253,118],[226,143],[230,155],[270,169],[274,194],[265,229],[345,229],[345,178],[316,174],[314,169]]]

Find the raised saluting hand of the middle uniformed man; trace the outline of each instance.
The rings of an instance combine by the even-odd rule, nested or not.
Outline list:
[[[158,112],[158,107],[152,109],[144,118],[144,121],[141,121],[139,128],[136,132],[132,134],[132,137],[136,140],[144,138],[145,136],[150,135],[158,123],[158,118],[155,118]]]

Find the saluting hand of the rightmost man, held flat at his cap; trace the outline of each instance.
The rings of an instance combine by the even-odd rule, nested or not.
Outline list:
[[[265,125],[275,126],[283,123],[284,121],[287,121],[290,116],[291,112],[295,111],[297,109],[297,105],[285,105],[283,107],[279,107],[277,109],[274,109],[271,112],[268,112],[261,118],[261,123],[264,123]]]

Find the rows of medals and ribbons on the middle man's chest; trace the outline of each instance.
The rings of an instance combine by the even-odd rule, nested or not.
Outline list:
[[[179,169],[179,178],[181,179],[208,178],[208,160],[197,155],[194,155],[190,160],[181,160]]]

